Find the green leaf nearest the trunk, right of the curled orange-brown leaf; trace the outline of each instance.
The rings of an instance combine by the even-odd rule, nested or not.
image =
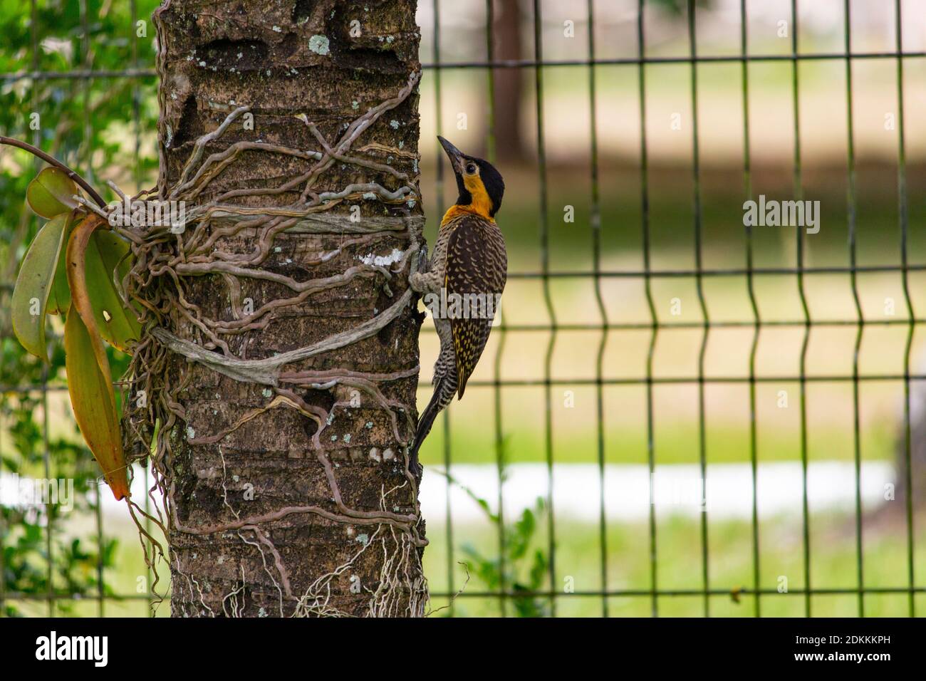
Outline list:
[[[134,311],[122,302],[114,283],[114,272],[119,281],[128,272],[128,255],[129,244],[118,234],[97,230],[87,246],[84,273],[100,335],[123,352],[142,334]]]

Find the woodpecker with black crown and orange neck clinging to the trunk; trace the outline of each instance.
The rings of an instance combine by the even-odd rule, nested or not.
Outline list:
[[[419,473],[418,450],[437,414],[454,395],[463,397],[482,355],[507,280],[505,237],[495,224],[505,182],[494,166],[468,156],[438,136],[457,177],[457,203],[444,213],[431,261],[411,275],[412,290],[431,309],[441,340],[434,362],[434,392],[421,413],[411,467]]]

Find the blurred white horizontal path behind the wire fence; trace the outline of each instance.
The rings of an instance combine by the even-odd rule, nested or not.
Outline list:
[[[498,473],[494,465],[461,464],[451,469],[460,485],[486,499],[493,510],[498,499]],[[142,476],[132,485],[132,497],[144,499]],[[894,467],[886,462],[862,464],[862,503],[870,508],[882,502],[885,485],[893,484]],[[512,518],[546,497],[546,466],[515,463],[508,468],[505,484],[505,513]],[[16,498],[17,480],[0,476],[0,500]],[[598,519],[598,467],[590,463],[562,463],[553,469],[553,503],[557,518],[583,522]],[[707,511],[711,518],[749,520],[752,517],[752,469],[747,463],[719,463],[707,466]],[[697,465],[657,466],[655,483],[657,513],[696,516],[702,509],[700,469]],[[232,491],[230,490],[230,493]],[[809,464],[807,498],[810,511],[855,511],[855,466],[848,461],[818,461]],[[421,485],[421,508],[429,524],[443,524],[446,514],[446,478],[438,469],[425,469]],[[797,462],[763,463],[758,467],[758,510],[761,516],[801,512],[802,478]],[[122,503],[104,494],[107,512],[124,513]],[[482,520],[484,513],[459,486],[450,487],[450,504],[455,523]],[[605,509],[612,521],[639,522],[649,517],[649,472],[638,464],[609,464],[605,468]]]

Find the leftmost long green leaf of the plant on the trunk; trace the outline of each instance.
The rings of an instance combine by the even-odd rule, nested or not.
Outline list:
[[[58,262],[63,261],[65,249],[62,245],[68,233],[69,218],[69,213],[57,215],[35,235],[22,259],[11,300],[13,333],[22,347],[45,361],[48,360],[45,314],[49,311],[48,298]],[[55,309],[56,306],[57,303]]]

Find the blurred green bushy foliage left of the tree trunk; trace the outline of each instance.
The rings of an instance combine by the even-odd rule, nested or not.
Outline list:
[[[135,132],[150,137],[155,129],[155,79],[31,79],[8,74],[120,71],[136,63],[150,68],[150,21],[147,38],[137,38],[135,21],[148,19],[155,7],[156,2],[122,0],[0,3],[0,72],[6,74],[0,82],[0,131],[41,146],[97,188],[103,185],[101,177],[130,186],[137,178],[150,181],[156,173],[153,147],[150,140],[144,148],[140,142],[136,145]],[[94,460],[83,447],[61,389],[62,325],[53,322],[56,334],[50,341],[49,365],[28,355],[10,326],[9,296],[19,260],[40,226],[25,204],[26,185],[40,167],[28,154],[0,149],[0,473],[6,483],[0,506],[0,589],[31,597],[3,600],[7,616],[105,612],[103,601],[81,599],[113,596],[104,575],[117,567],[118,541],[101,522],[97,497],[101,487],[106,493],[106,486],[97,479]],[[124,358],[120,360],[124,370]],[[117,359],[115,375],[119,369]],[[16,498],[16,476],[72,480],[73,509],[17,503],[21,499]],[[77,600],[48,599],[51,595]]]

